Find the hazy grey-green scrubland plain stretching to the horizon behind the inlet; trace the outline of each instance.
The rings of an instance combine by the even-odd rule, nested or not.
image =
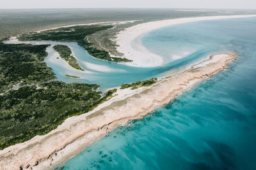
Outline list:
[[[176,11],[173,9],[26,9],[0,10],[0,38],[72,24],[109,20],[154,20],[204,15],[213,11]]]

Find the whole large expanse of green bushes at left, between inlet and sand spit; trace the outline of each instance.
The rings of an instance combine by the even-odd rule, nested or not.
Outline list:
[[[42,62],[46,47],[0,42],[0,150],[47,133],[116,92],[109,90],[102,97],[96,91],[99,85],[52,81],[54,73]],[[20,87],[14,90],[14,84]]]

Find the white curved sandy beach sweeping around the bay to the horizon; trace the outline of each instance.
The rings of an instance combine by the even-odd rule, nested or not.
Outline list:
[[[116,50],[120,53],[124,53],[124,56],[122,57],[132,60],[132,62],[122,64],[133,67],[157,67],[163,65],[163,57],[150,52],[147,50],[147,48],[145,48],[145,46],[141,44],[141,37],[148,32],[172,25],[185,24],[188,22],[243,17],[256,17],[256,15],[221,15],[193,18],[175,18],[170,20],[145,22],[143,24],[128,27],[127,29],[118,32],[118,34],[116,34],[116,38],[113,38],[113,41],[116,41],[116,45],[118,46]],[[113,55],[113,57],[118,56]]]

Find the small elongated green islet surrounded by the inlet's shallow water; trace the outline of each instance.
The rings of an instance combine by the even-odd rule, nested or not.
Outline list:
[[[56,52],[60,53],[60,57],[67,61],[71,67],[83,70],[77,63],[76,58],[71,55],[72,52],[67,45],[54,45],[53,48],[56,50]]]

